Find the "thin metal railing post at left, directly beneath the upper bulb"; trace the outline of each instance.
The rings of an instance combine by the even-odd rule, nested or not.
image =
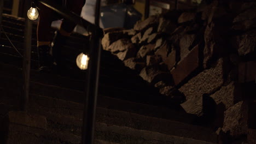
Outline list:
[[[25,1],[25,9],[30,8],[31,0]],[[32,21],[25,17],[25,33],[24,33],[24,54],[23,54],[23,94],[22,94],[22,110],[27,111],[29,93],[30,93],[30,65],[31,65],[31,39],[32,39]]]

